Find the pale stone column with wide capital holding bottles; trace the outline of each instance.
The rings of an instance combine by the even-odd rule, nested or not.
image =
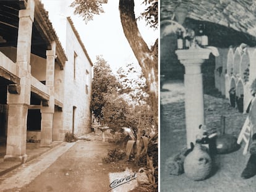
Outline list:
[[[179,61],[185,67],[187,148],[190,148],[190,142],[195,143],[199,125],[205,124],[201,65],[209,58],[210,52],[210,49],[202,48],[176,51]]]

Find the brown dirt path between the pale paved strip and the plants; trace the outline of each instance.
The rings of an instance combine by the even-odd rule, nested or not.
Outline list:
[[[21,191],[108,191],[107,144],[80,141]],[[96,178],[96,179],[95,179]]]

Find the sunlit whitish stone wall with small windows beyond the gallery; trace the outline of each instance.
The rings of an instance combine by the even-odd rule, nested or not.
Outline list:
[[[91,130],[90,95],[92,89],[92,65],[85,55],[71,25],[67,21],[66,54],[68,61],[64,67],[64,125],[59,132],[60,138],[64,138],[67,131],[72,132],[73,122],[76,135],[82,135]],[[88,92],[86,88],[88,88]]]

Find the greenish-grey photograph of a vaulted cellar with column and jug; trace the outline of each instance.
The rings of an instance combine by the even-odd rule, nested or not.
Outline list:
[[[160,1],[160,191],[255,191],[255,1]]]

